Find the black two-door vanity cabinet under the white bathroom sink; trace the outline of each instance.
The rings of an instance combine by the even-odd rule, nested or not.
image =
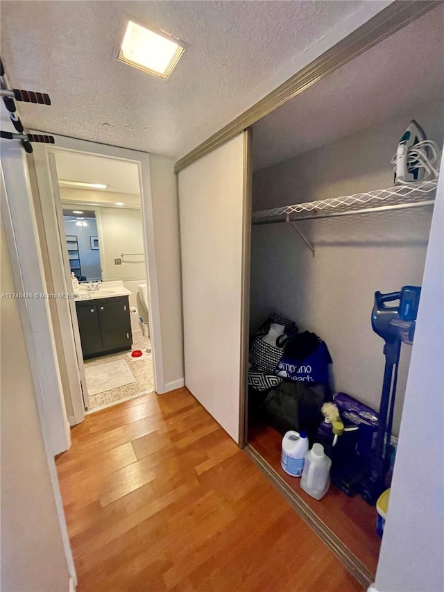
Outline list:
[[[76,310],[84,360],[133,345],[128,296],[77,301]]]

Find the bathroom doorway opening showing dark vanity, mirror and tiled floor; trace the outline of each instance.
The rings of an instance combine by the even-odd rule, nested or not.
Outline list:
[[[62,150],[55,164],[83,399],[94,412],[154,389],[139,170],[134,162]]]

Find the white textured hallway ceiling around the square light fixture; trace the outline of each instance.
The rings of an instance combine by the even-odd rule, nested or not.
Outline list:
[[[3,1],[1,56],[40,130],[182,156],[389,1]],[[189,44],[167,81],[116,60],[124,14]]]

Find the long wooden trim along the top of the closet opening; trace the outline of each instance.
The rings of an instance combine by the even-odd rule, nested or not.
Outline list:
[[[436,8],[442,0],[395,0],[389,6],[378,12],[374,17],[359,26],[350,35],[344,37],[339,43],[327,49],[316,60],[300,69],[287,81],[272,90],[255,105],[248,108],[230,124],[210,136],[205,142],[199,144],[180,158],[174,166],[174,172],[185,169],[204,154],[218,148],[229,139],[238,135],[246,128],[252,126],[268,113],[287,103],[295,96],[307,90],[325,76],[332,74],[341,66],[350,62],[379,42],[390,37],[396,31],[404,28],[412,21],[425,15],[426,12]]]

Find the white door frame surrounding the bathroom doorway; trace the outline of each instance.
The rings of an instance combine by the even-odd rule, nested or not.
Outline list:
[[[164,392],[164,367],[162,358],[162,335],[160,329],[160,299],[157,282],[157,267],[155,260],[154,243],[154,221],[153,203],[151,196],[151,174],[149,154],[131,149],[98,144],[82,139],[67,136],[53,135],[56,144],[36,144],[34,147],[34,162],[37,184],[40,194],[42,210],[45,213],[44,224],[46,236],[56,234],[57,240],[51,245],[53,260],[51,262],[51,273],[58,282],[65,285],[65,291],[71,292],[70,273],[67,262],[67,255],[62,249],[62,237],[65,228],[60,228],[62,221],[62,203],[58,189],[57,171],[55,167],[55,154],[58,152],[82,153],[94,155],[112,160],[125,160],[134,162],[139,169],[139,191],[142,211],[142,234],[145,251],[145,273],[148,285],[148,311],[151,321],[151,343],[153,346],[153,373],[154,389],[157,393]],[[54,162],[51,162],[54,160]],[[50,246],[50,245],[49,245]],[[51,253],[50,253],[51,255]],[[87,393],[85,373],[83,369],[83,356],[81,355],[80,333],[78,332],[77,317],[75,314],[75,303],[69,300],[70,319],[65,314],[60,319],[61,327],[71,330],[75,342],[76,366],[78,367],[79,380],[82,382],[82,389]],[[67,327],[69,323],[69,327]],[[69,347],[69,346],[68,346]],[[65,342],[64,342],[65,348]],[[80,352],[80,357],[79,357]],[[71,362],[74,361],[72,350],[65,351]],[[83,405],[82,392],[77,391],[73,397],[74,416],[69,418],[71,425],[83,421],[85,408]]]

